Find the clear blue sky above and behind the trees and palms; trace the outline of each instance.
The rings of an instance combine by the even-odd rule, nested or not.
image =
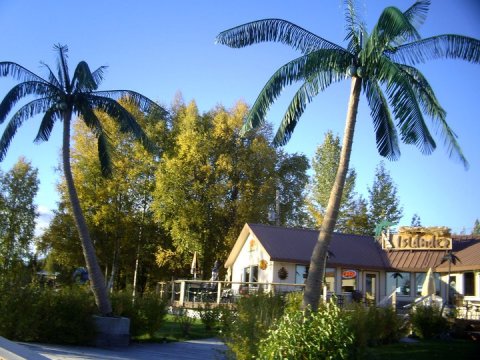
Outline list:
[[[358,10],[369,29],[389,5],[405,10],[413,1],[359,0]],[[423,37],[457,33],[480,38],[478,0],[433,0]],[[215,45],[222,30],[262,18],[292,21],[330,41],[343,42],[343,0],[226,0],[204,1],[0,1],[0,60],[14,61],[44,75],[40,62],[56,65],[54,44],[68,45],[70,68],[86,60],[95,69],[107,65],[101,89],[131,89],[169,106],[181,92],[195,100],[201,111],[217,104],[231,107],[238,100],[253,104],[259,91],[285,62],[299,54],[282,44],[258,44],[244,49]],[[480,66],[460,61],[435,61],[418,66],[429,79],[447,120],[459,136],[470,162],[465,171],[449,159],[440,138],[433,155],[423,156],[402,146],[402,156],[386,163],[404,207],[403,225],[414,213],[425,226],[449,226],[455,232],[471,231],[480,218],[480,134],[478,102]],[[0,96],[13,82],[0,79]],[[348,82],[337,84],[309,105],[297,126],[288,152],[309,158],[331,129],[343,133]],[[293,87],[292,89],[295,89]],[[278,125],[293,90],[285,91],[268,114]],[[60,153],[61,127],[48,143],[33,144],[38,120],[25,123],[11,144],[0,169],[7,171],[25,156],[40,174],[37,204],[42,213],[56,207],[55,171]],[[367,195],[381,157],[376,152],[373,127],[365,98],[361,98],[351,166],[358,173],[357,191]],[[4,125],[0,125],[3,131]]]

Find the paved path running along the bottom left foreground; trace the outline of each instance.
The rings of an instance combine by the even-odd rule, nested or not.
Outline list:
[[[131,344],[126,348],[99,349],[21,343],[27,349],[51,360],[224,360],[227,347],[218,339],[190,340],[164,344]]]

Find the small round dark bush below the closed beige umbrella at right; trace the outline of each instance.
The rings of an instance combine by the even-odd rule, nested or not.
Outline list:
[[[412,330],[422,339],[431,339],[448,330],[448,322],[439,306],[418,305],[410,312]]]

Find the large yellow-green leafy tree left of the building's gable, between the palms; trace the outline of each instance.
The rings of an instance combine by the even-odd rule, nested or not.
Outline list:
[[[177,273],[186,273],[197,251],[208,276],[245,222],[267,220],[276,155],[261,132],[239,136],[247,110],[239,103],[200,115],[194,102],[174,109],[174,146],[158,167],[154,211],[173,241],[159,248],[158,262]]]

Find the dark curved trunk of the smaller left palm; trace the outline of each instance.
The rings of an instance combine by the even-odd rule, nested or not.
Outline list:
[[[90,279],[90,286],[92,288],[95,303],[102,315],[111,315],[112,306],[108,298],[107,289],[105,286],[105,279],[103,277],[100,266],[98,265],[95,248],[93,247],[92,239],[88,232],[87,223],[83,216],[82,209],[80,207],[80,201],[78,199],[77,189],[73,182],[72,169],[70,166],[70,123],[72,120],[72,111],[67,109],[63,116],[63,147],[62,147],[62,160],[63,160],[63,172],[65,181],[67,183],[68,196],[70,198],[70,204],[72,206],[73,218],[75,219],[75,225],[77,226],[78,234],[80,236],[80,242],[82,245],[83,256],[85,257],[85,263],[88,269],[88,276]]]

